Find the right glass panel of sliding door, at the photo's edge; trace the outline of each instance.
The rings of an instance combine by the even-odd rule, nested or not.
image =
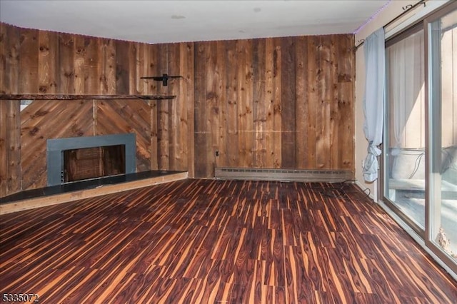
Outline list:
[[[457,10],[429,24],[430,240],[457,260]]]

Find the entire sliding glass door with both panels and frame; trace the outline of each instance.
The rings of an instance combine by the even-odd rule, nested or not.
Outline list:
[[[457,272],[457,1],[386,41],[383,200]]]

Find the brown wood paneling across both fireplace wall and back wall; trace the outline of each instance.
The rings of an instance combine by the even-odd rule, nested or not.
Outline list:
[[[139,171],[353,170],[354,66],[353,35],[150,45],[0,23],[0,93],[177,96],[1,101],[0,195],[46,185],[46,139],[110,133],[136,133]],[[140,79],[164,73],[184,78]]]

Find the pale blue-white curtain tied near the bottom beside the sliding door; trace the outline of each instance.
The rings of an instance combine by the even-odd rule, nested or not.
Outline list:
[[[365,123],[363,132],[368,140],[368,155],[363,163],[365,181],[376,181],[378,178],[378,159],[381,149],[378,146],[383,138],[384,87],[386,79],[384,29],[378,29],[368,36],[363,43],[365,53],[365,95],[363,111]]]

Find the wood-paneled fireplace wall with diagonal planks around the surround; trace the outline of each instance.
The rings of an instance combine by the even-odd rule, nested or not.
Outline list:
[[[4,141],[1,142],[1,169],[5,175],[2,176],[1,196],[46,186],[46,139],[59,136],[133,131],[139,139],[139,171],[158,168],[160,160],[167,160],[162,161],[162,168],[188,168],[186,151],[194,150],[187,148],[192,137],[189,134],[193,134],[188,127],[189,109],[192,113],[194,110],[193,93],[189,94],[193,89],[190,79],[193,75],[193,44],[176,44],[177,49],[170,50],[174,51],[171,55],[173,58],[177,56],[182,59],[176,61],[182,67],[176,72],[187,76],[186,86],[181,86],[184,81],[170,82],[174,91],[182,93],[184,97],[172,108],[173,112],[165,110],[160,103],[161,111],[158,112],[158,103],[141,101],[139,98],[163,100],[176,96],[157,96],[158,92],[164,92],[161,83],[151,83],[139,77],[159,73],[159,69],[161,73],[168,71],[168,46],[164,45],[159,50],[156,46],[146,44],[31,31],[6,24],[0,24],[0,33],[0,55],[4,63],[0,65],[0,91],[4,99],[2,117],[5,117],[1,119],[1,130],[5,136],[1,138],[14,144],[6,138],[6,134],[11,139],[21,134],[14,148],[6,148]],[[164,54],[161,52],[163,50]],[[189,61],[192,64],[187,64]],[[157,64],[159,62],[164,62],[164,66],[160,67]],[[139,96],[140,93],[142,96]],[[19,100],[23,99],[35,101],[20,113]],[[84,102],[81,101],[83,99]],[[56,103],[56,100],[65,103]],[[83,103],[84,106],[77,106]],[[11,119],[10,122],[6,120],[7,116],[21,117],[19,125],[18,121],[11,124]],[[157,136],[159,121],[161,145],[157,146],[153,138],[154,134]],[[166,139],[168,137],[176,138],[173,145]],[[174,146],[171,153],[170,146]],[[19,170],[19,173],[6,170],[9,161],[9,166]],[[7,179],[14,181],[18,187],[6,187]]]

